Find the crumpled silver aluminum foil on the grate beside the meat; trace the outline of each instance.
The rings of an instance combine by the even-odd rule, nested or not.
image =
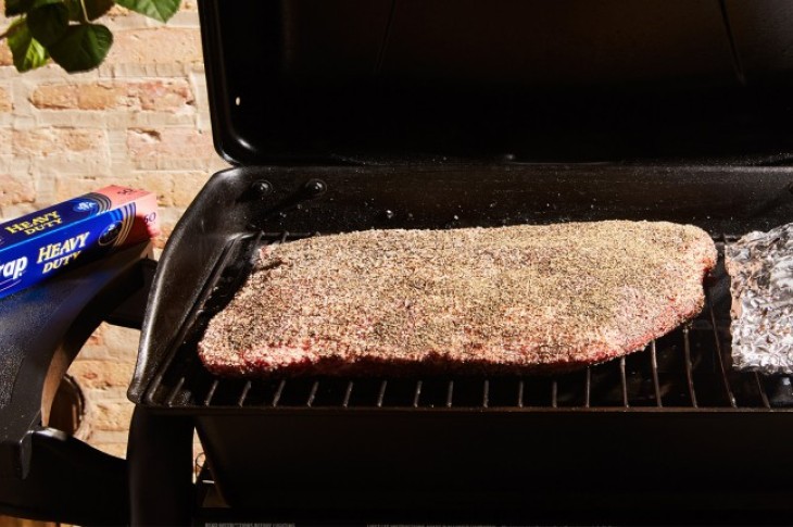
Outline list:
[[[737,369],[793,374],[793,223],[725,249]]]

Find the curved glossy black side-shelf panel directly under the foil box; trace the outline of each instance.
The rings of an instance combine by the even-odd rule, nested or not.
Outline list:
[[[42,405],[90,334],[143,285],[141,243],[0,302],[0,474],[25,477]]]

